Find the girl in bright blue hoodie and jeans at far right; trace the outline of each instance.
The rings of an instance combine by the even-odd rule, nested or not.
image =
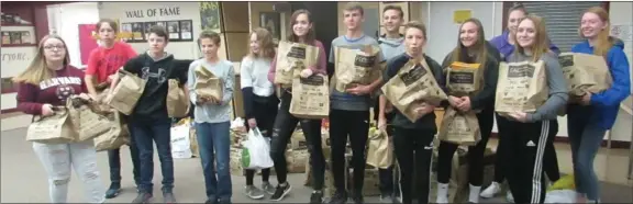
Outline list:
[[[579,104],[567,106],[567,129],[579,203],[600,202],[600,183],[593,171],[593,158],[604,133],[615,123],[620,103],[631,93],[630,65],[623,52],[624,43],[609,36],[610,23],[609,12],[604,9],[588,9],[580,20],[580,36],[587,41],[571,47],[574,53],[603,56],[613,77],[613,84],[608,90],[588,92],[579,99]]]

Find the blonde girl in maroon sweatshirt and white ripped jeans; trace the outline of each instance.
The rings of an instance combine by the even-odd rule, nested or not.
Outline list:
[[[53,106],[64,106],[73,94],[90,99],[86,94],[84,71],[70,66],[68,47],[57,35],[42,38],[35,58],[24,72],[13,78],[13,82],[19,86],[18,110],[30,115],[53,115]],[[106,188],[101,183],[91,139],[69,144],[33,143],[33,150],[46,170],[51,203],[68,202],[71,167],[84,182],[87,202],[106,202]]]

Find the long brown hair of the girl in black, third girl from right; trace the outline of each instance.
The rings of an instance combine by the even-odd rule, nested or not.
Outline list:
[[[477,26],[477,42],[473,45],[473,53],[475,54],[475,61],[477,61],[482,68],[486,67],[486,63],[488,60],[488,46],[486,46],[486,35],[484,34],[484,26],[481,25],[481,21],[478,19],[471,18],[462,25],[459,25],[459,31],[457,33],[457,46],[451,52],[452,60],[453,61],[463,61],[464,58],[468,55],[468,48],[462,44],[459,34],[462,33],[462,27],[466,23],[474,23]]]

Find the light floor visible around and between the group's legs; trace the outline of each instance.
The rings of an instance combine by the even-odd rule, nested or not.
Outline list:
[[[1,144],[1,203],[15,203],[15,202],[31,202],[41,203],[47,202],[47,182],[44,170],[42,169],[37,158],[33,154],[31,144],[24,141],[25,125],[30,122],[30,117],[19,116],[4,118],[1,122],[2,134],[0,137]],[[22,127],[22,128],[16,128]],[[12,129],[12,131],[10,131]],[[491,139],[490,146],[495,147],[497,140]],[[567,144],[556,144],[558,162],[563,173],[571,172],[570,151]],[[123,185],[126,188],[132,186],[131,178],[131,161],[129,159],[129,150],[122,150],[122,166],[123,166]],[[108,158],[107,154],[99,152],[99,169],[102,172],[101,180],[107,183],[108,179]],[[155,175],[154,183],[155,192],[159,192],[160,171],[157,163],[158,159],[155,157]],[[602,182],[602,202],[612,203],[632,203],[633,183],[626,178],[626,168],[629,163],[628,149],[601,149],[596,158],[595,167],[598,177]],[[176,166],[176,194],[179,202],[192,203],[203,201],[203,181],[201,178],[200,161],[198,159],[177,159]],[[197,177],[192,177],[197,175]],[[271,178],[274,181],[274,177]],[[293,185],[290,197],[284,203],[304,203],[308,201],[310,190],[301,186],[303,174],[290,174],[289,182]],[[242,195],[244,178],[233,177],[233,194],[235,203],[251,202]],[[256,183],[258,178],[256,179]],[[81,192],[81,184],[77,178],[70,183],[71,192]],[[120,197],[109,200],[108,203],[129,202],[133,199],[134,193],[131,190],[124,192]],[[160,195],[156,195],[155,202],[162,201]],[[81,202],[82,196],[80,193],[71,193],[69,202]],[[263,201],[265,202],[265,201]],[[367,197],[366,202],[376,203],[378,197]],[[489,203],[503,203],[503,199],[496,197],[481,202]]]

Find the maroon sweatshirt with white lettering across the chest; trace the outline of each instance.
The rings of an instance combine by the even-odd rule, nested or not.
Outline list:
[[[18,110],[41,115],[43,104],[66,105],[66,99],[73,94],[87,92],[84,71],[73,66],[55,71],[55,77],[40,84],[18,84]]]

